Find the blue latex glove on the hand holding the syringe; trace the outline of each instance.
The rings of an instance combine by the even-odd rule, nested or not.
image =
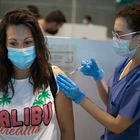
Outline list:
[[[104,71],[99,68],[96,61],[94,59],[90,60],[83,60],[81,62],[81,65],[83,66],[81,68],[81,72],[84,75],[92,76],[95,80],[102,80],[104,77]]]

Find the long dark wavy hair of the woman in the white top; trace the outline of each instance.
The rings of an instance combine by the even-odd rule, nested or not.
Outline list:
[[[45,39],[36,18],[26,9],[12,10],[3,17],[0,23],[0,92],[8,94],[8,89],[12,89],[14,96],[13,81],[15,70],[12,62],[8,59],[7,27],[9,25],[25,25],[31,30],[36,58],[30,67],[29,81],[33,85],[33,92],[37,89],[48,87],[51,75],[51,65],[49,63],[50,53],[46,47]]]

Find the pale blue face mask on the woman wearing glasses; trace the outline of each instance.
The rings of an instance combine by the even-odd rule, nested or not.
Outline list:
[[[113,48],[115,52],[123,57],[132,58],[136,53],[136,48],[129,48],[129,40],[119,40],[116,37],[113,37]]]

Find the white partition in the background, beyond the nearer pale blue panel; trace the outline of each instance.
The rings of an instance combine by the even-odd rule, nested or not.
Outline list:
[[[66,23],[59,30],[57,36],[76,39],[107,40],[107,27],[94,24]]]

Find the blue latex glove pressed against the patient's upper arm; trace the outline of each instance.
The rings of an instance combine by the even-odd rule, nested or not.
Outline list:
[[[59,74],[56,78],[60,90],[75,103],[80,104],[85,95],[79,90],[77,85],[65,75]]]

